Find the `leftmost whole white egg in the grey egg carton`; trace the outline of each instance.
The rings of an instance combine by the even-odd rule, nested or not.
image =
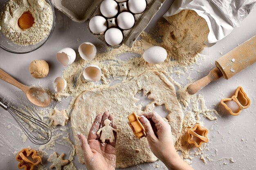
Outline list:
[[[94,34],[104,33],[108,28],[108,22],[103,16],[96,15],[90,19],[89,28]]]

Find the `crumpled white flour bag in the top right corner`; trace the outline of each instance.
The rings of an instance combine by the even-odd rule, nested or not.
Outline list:
[[[256,6],[256,0],[175,0],[164,17],[194,10],[209,26],[208,43],[226,37]],[[208,44],[208,45],[210,45]]]

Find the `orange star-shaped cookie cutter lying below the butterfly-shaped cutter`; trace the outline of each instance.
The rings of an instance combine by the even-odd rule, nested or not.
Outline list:
[[[186,139],[189,144],[195,144],[196,147],[200,148],[202,143],[209,141],[207,134],[208,129],[201,127],[200,124],[197,123],[186,132]]]

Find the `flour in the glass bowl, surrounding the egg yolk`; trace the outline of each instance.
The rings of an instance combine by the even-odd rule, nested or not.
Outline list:
[[[21,29],[18,20],[23,13],[31,13],[34,24]],[[53,13],[45,0],[9,0],[0,14],[0,30],[14,44],[28,46],[44,40],[52,29]]]

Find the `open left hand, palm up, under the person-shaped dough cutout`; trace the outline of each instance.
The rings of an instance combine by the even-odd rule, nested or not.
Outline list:
[[[103,115],[98,114],[90,132],[88,134],[88,139],[82,134],[78,134],[78,138],[81,140],[81,147],[83,150],[85,166],[88,170],[115,170],[116,167],[116,139],[117,133],[114,132],[114,141],[112,143],[101,143],[99,137],[97,136],[97,131],[99,128],[104,126],[104,121],[109,119],[111,121],[111,126],[117,129],[114,123],[114,115],[108,111],[104,112]]]

